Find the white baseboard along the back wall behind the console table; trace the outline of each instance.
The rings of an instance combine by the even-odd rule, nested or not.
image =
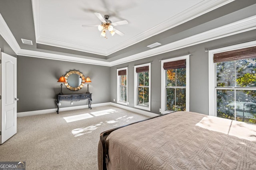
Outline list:
[[[92,107],[100,107],[100,106],[108,106],[110,105],[110,102],[108,103],[99,103],[99,104],[92,104]],[[85,109],[88,108],[88,105],[83,106],[73,106],[73,107],[60,107],[59,111],[70,111],[70,110],[77,110],[77,109]],[[35,110],[35,111],[25,111],[25,112],[19,112],[17,113],[17,117],[24,117],[24,116],[32,116],[32,115],[41,115],[41,114],[47,114],[47,113],[56,113],[56,109],[45,109],[45,110]]]

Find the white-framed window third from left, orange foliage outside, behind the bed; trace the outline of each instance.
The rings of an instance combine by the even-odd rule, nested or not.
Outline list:
[[[189,111],[189,55],[161,63],[161,113]]]

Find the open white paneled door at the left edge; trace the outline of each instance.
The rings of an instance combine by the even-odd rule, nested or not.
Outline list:
[[[2,86],[1,95],[1,126],[0,144],[17,133],[17,59],[0,53]]]

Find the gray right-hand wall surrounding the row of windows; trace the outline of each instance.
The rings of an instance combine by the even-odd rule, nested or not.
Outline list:
[[[206,49],[216,49],[246,41],[256,40],[256,30],[232,35],[222,39],[186,47],[161,55],[148,57],[130,63],[112,66],[110,69],[110,101],[117,99],[116,69],[128,66],[128,102],[134,107],[134,65],[151,63],[151,112],[160,114],[161,100],[161,62],[160,60],[190,53],[190,111],[208,115],[208,53]],[[114,102],[116,103],[116,102]]]

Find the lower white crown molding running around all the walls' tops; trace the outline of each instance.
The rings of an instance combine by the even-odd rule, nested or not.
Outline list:
[[[95,59],[85,59],[80,57],[71,57],[68,55],[58,55],[58,54],[45,53],[40,51],[20,49],[20,46],[18,45],[16,39],[12,35],[12,32],[10,31],[6,22],[2,18],[2,15],[0,15],[0,34],[17,55],[59,60],[59,61],[69,61],[69,62],[76,62],[76,63],[95,64],[95,65],[102,65],[102,66],[115,66],[122,63],[128,63],[131,61],[152,57],[154,55],[159,55],[159,54],[174,51],[177,49],[182,49],[185,47],[204,43],[207,41],[212,41],[214,39],[228,37],[230,35],[235,35],[235,34],[250,31],[253,29],[256,29],[256,15],[240,21],[236,21],[234,23],[230,23],[230,24],[215,28],[215,29],[211,29],[209,31],[205,31],[203,33],[199,33],[199,34],[196,34],[196,35],[193,35],[193,36],[190,36],[190,37],[187,37],[187,38],[184,38],[160,47],[156,47],[154,49],[150,49],[142,53],[138,53],[128,57],[124,57],[122,59],[108,62],[107,60],[100,61]]]

